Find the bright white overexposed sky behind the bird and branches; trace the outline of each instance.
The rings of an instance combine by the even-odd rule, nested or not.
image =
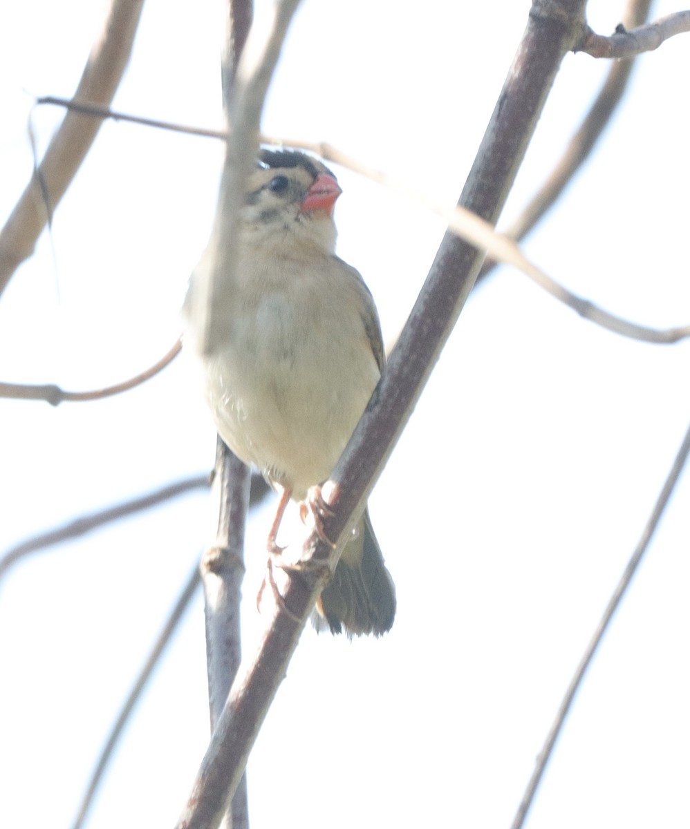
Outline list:
[[[74,90],[102,3],[0,12],[0,221],[31,172],[32,95]],[[592,0],[607,33],[622,2]],[[149,0],[115,108],[220,124],[218,2]],[[328,140],[458,195],[529,2],[305,0],[265,131]],[[422,10],[423,9],[423,10]],[[676,10],[659,2],[658,16]],[[506,211],[514,215],[606,69],[568,56]],[[645,56],[595,158],[527,242],[556,279],[649,325],[690,319],[688,40]],[[59,113],[33,115],[45,148]],[[221,148],[106,124],[51,239],[0,302],[0,379],[88,389],[158,359],[213,215]],[[338,171],[339,253],[386,337],[443,232]],[[519,274],[471,298],[372,496],[399,610],[389,636],[304,633],[250,759],[255,829],[507,827],[567,681],[690,419],[690,345],[602,332]],[[210,468],[214,434],[182,361],[129,395],[0,403],[0,551]],[[532,829],[687,826],[686,474],[566,726]],[[268,505],[252,521],[247,649]],[[209,534],[207,498],[36,557],[0,584],[3,824],[68,827],[150,642]],[[207,742],[202,601],[139,706],[93,827],[171,827]]]

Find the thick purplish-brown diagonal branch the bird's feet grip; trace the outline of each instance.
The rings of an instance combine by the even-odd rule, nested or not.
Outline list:
[[[487,221],[495,221],[503,207],[562,57],[581,38],[584,6],[584,0],[539,4],[538,13],[529,17],[461,196],[466,208]],[[362,511],[459,316],[482,259],[483,251],[446,234],[377,391],[323,487],[323,497],[333,509],[333,516],[323,522],[329,538],[344,539]],[[179,829],[207,829],[220,821],[304,619],[328,579],[328,570],[338,560],[338,550],[319,543],[315,533],[297,554],[292,566],[298,571],[274,570],[276,602],[269,628],[254,659],[242,663],[233,683]]]

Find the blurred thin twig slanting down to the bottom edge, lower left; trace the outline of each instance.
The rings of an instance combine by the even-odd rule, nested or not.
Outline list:
[[[195,565],[194,569],[189,574],[187,583],[182,588],[182,592],[178,596],[177,601],[173,605],[173,608],[171,608],[170,613],[168,613],[168,618],[163,624],[163,629],[160,633],[158,633],[158,638],[153,643],[151,652],[149,652],[148,657],[146,657],[146,662],[143,663],[143,666],[134,681],[134,686],[132,686],[131,691],[129,691],[129,694],[127,695],[127,698],[124,701],[122,708],[119,710],[119,714],[117,715],[112,728],[110,729],[108,739],[106,739],[104,747],[101,749],[99,759],[95,764],[89,783],[86,786],[85,793],[81,798],[75,821],[72,824],[72,829],[81,829],[81,827],[84,826],[86,815],[94,802],[94,797],[100,783],[103,781],[110,759],[113,756],[114,749],[123,734],[124,726],[127,725],[130,717],[134,713],[134,708],[137,705],[144,688],[148,685],[148,681],[151,679],[155,667],[158,665],[160,658],[163,656],[163,652],[168,646],[168,642],[170,642],[170,639],[173,637],[173,633],[177,630],[177,626],[182,620],[184,612],[187,610],[187,607],[194,598],[194,594],[197,592],[199,584],[199,568]]]

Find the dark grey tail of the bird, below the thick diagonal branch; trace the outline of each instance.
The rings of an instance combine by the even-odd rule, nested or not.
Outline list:
[[[357,536],[345,545],[333,580],[318,599],[318,613],[332,633],[381,636],[396,616],[396,589],[386,570],[369,511],[357,526]],[[317,623],[317,628],[323,627]]]

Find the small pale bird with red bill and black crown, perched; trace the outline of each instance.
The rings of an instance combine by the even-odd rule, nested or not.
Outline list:
[[[218,286],[230,299],[227,329],[202,357],[221,438],[282,490],[274,551],[289,498],[303,502],[333,471],[385,359],[372,295],[334,253],[341,192],[315,158],[260,151],[241,210],[236,274]],[[192,274],[190,292],[194,283]],[[390,630],[395,588],[368,511],[317,609],[333,633]]]

